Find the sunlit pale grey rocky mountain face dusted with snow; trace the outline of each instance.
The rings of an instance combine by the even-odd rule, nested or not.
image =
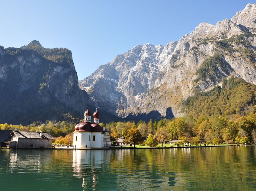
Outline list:
[[[140,45],[117,55],[79,87],[121,117],[178,117],[183,100],[223,78],[256,84],[255,47],[256,4],[248,4],[231,20],[201,23],[178,42]]]

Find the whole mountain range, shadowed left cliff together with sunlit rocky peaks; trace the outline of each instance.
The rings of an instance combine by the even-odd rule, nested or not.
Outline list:
[[[256,84],[255,58],[256,4],[165,46],[138,45],[81,81],[66,48],[0,46],[0,123],[79,119],[88,105],[103,122],[183,116],[188,98],[224,80]]]

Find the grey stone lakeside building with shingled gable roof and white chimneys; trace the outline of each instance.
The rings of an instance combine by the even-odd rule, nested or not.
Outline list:
[[[10,148],[51,148],[54,139],[48,133],[18,131],[16,128],[10,135],[12,140],[5,142]]]

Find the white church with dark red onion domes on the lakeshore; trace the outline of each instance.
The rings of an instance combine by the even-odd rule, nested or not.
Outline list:
[[[84,122],[75,126],[73,145],[76,148],[101,148],[111,145],[110,136],[105,128],[99,125],[99,112],[93,114],[91,122],[91,112],[88,109],[84,112]]]

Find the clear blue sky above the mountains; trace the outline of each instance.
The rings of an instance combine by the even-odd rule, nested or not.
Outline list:
[[[38,40],[72,51],[78,79],[136,45],[166,45],[202,22],[216,24],[244,9],[247,0],[1,0],[0,45]]]

